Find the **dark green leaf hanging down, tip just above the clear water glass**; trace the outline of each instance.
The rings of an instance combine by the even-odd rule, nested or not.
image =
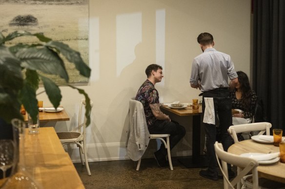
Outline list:
[[[26,80],[24,81],[24,86],[20,91],[20,100],[24,104],[26,111],[31,115],[32,119],[36,120],[39,113],[36,90]]]

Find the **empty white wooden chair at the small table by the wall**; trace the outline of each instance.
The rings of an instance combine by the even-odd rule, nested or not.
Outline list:
[[[79,107],[78,127],[70,132],[58,132],[57,135],[61,140],[62,146],[70,143],[77,144],[77,146],[79,147],[81,163],[82,165],[84,165],[85,162],[88,175],[91,175],[87,160],[87,149],[86,149],[86,117],[84,116],[83,122],[81,121],[81,118],[84,114],[84,111],[82,111],[82,109],[84,108],[85,105],[86,105],[85,99],[82,99]],[[93,107],[92,101],[90,101],[90,105],[92,108]],[[84,161],[83,161],[83,155],[84,155]]]

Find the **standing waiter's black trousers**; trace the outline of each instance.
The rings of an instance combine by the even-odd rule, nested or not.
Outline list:
[[[211,91],[203,93],[203,118],[205,110],[204,98],[213,98],[214,99],[214,108],[215,108],[215,118],[219,117],[219,130],[220,138],[224,147],[224,151],[232,144],[231,137],[229,136],[227,129],[232,125],[232,113],[231,113],[231,98],[229,96],[228,89],[217,88]],[[215,155],[214,143],[216,142],[217,129],[216,125],[203,123],[206,133],[206,148],[207,156],[209,159],[209,168],[210,172],[215,172],[217,167],[217,159]],[[230,168],[228,166],[228,168]]]

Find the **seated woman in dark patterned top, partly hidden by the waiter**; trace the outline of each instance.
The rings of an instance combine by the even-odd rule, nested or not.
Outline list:
[[[233,125],[250,123],[254,114],[257,95],[249,86],[247,75],[243,71],[237,71],[238,85],[230,92],[232,109],[241,110],[233,114]]]

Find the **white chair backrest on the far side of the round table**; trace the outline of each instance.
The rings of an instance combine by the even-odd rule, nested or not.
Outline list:
[[[237,134],[251,131],[260,131],[258,135],[263,135],[266,131],[266,135],[270,135],[271,123],[259,122],[259,123],[246,123],[241,125],[232,125],[228,128],[229,135],[234,139],[234,142],[239,142]]]

